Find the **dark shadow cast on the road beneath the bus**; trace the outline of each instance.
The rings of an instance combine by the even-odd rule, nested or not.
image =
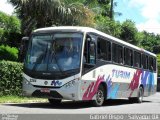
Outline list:
[[[151,101],[143,101],[151,102]],[[104,105],[102,107],[107,106],[119,106],[119,105],[127,105],[127,104],[136,104],[134,102],[131,102],[129,100],[122,100],[122,99],[116,99],[116,100],[107,100],[105,101]],[[21,104],[5,104],[6,106],[17,106],[17,107],[27,107],[27,108],[41,108],[41,109],[80,109],[80,108],[90,108],[94,107],[91,102],[82,102],[82,101],[63,101],[61,104],[58,105],[51,105],[49,103],[21,103]]]

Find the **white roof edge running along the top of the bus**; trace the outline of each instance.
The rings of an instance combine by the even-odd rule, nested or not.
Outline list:
[[[118,42],[118,43],[120,43],[120,44],[123,44],[123,45],[126,45],[126,46],[128,46],[128,47],[132,47],[133,49],[135,49],[135,50],[138,50],[138,51],[142,51],[142,52],[145,52],[145,53],[147,53],[147,54],[149,54],[149,55],[152,55],[152,56],[154,56],[154,57],[156,57],[156,54],[154,54],[154,53],[151,53],[151,52],[149,52],[149,51],[147,51],[147,50],[144,50],[143,48],[139,48],[139,47],[137,47],[137,46],[135,46],[135,45],[132,45],[132,44],[130,44],[130,43],[127,43],[127,42],[125,42],[125,41],[123,41],[123,40],[120,40],[120,39],[118,39],[118,38],[116,38],[116,37],[113,37],[113,36],[111,36],[111,35],[108,35],[108,34],[106,34],[106,33],[103,33],[103,32],[101,32],[101,31],[98,31],[98,30],[96,30],[96,29],[94,29],[94,28],[90,28],[90,27],[80,27],[80,26],[58,26],[58,27],[46,27],[46,28],[40,28],[40,29],[36,29],[36,30],[34,30],[34,32],[47,32],[47,31],[55,31],[55,30],[62,30],[62,31],[81,31],[81,32],[84,32],[84,33],[88,33],[88,32],[92,32],[92,33],[96,33],[96,34],[99,34],[99,35],[101,35],[101,36],[104,36],[104,37],[106,37],[106,38],[108,38],[109,40],[111,40],[111,41],[115,41],[115,42]]]

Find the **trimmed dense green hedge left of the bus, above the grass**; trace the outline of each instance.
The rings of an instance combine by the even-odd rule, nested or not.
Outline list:
[[[22,94],[22,64],[0,61],[0,96]]]

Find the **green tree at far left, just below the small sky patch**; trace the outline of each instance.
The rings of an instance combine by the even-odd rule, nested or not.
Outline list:
[[[21,21],[0,12],[0,44],[18,47],[21,40]]]

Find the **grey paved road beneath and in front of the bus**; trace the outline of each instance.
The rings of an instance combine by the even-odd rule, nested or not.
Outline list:
[[[49,103],[0,104],[1,114],[109,114],[109,113],[159,113],[160,93],[144,98],[142,104],[128,100],[109,100],[102,107],[89,102],[63,101],[59,106]]]

